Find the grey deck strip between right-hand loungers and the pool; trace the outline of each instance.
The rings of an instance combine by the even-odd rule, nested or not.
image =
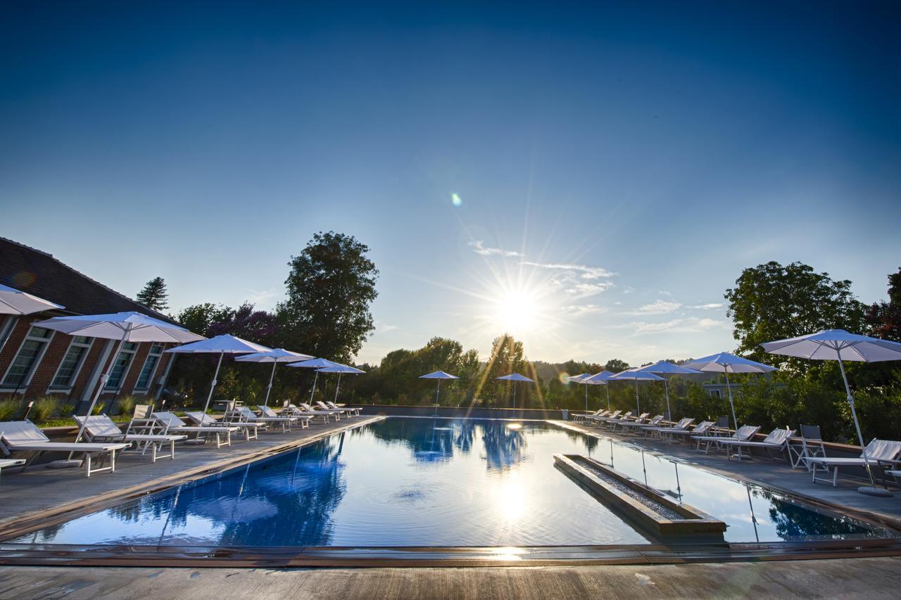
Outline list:
[[[608,432],[605,429],[577,425],[569,421],[551,421],[551,423],[586,432],[596,437],[628,442],[643,449],[679,459],[681,462],[699,465],[725,477],[734,477],[764,486],[776,487],[791,494],[803,496],[814,502],[841,505],[861,513],[877,515],[896,526],[901,525],[901,490],[896,486],[889,486],[889,489],[894,494],[892,497],[862,495],[858,493],[857,488],[865,482],[856,478],[841,477],[841,471],[839,486],[833,487],[831,484],[822,482],[813,483],[810,473],[805,468],[791,468],[789,463],[766,457],[755,455],[752,460],[739,462],[738,460],[728,459],[724,450],[710,450],[709,454],[705,454],[704,452],[697,452],[694,444],[669,444],[657,438]],[[603,457],[603,450],[598,450],[597,456]],[[820,477],[824,477],[824,475],[821,474]]]

